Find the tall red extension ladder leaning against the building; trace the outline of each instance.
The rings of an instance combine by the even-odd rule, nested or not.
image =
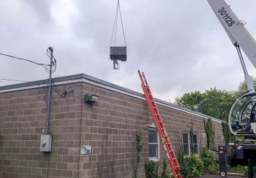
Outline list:
[[[156,124],[156,128],[159,134],[159,137],[161,138],[162,145],[164,147],[164,151],[166,152],[166,156],[168,158],[168,162],[170,164],[170,167],[172,168],[172,172],[175,178],[182,178],[180,175],[180,167],[179,163],[177,161],[177,158],[175,156],[175,153],[172,148],[172,144],[169,140],[169,137],[167,135],[167,132],[164,128],[163,121],[161,119],[161,116],[158,112],[158,109],[156,107],[156,103],[154,101],[154,98],[152,96],[152,93],[149,89],[148,82],[146,80],[146,77],[144,73],[140,73],[140,70],[138,71],[140,75],[140,80],[141,80],[141,87],[143,89],[143,92],[145,94],[145,98],[147,99],[148,107],[150,108],[150,112],[153,116],[153,119]]]

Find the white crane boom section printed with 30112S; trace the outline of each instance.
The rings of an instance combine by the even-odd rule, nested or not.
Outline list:
[[[207,0],[233,45],[241,47],[256,68],[256,41],[224,0]]]

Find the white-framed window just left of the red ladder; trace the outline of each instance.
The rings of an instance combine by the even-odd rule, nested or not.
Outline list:
[[[150,160],[159,159],[159,136],[154,128],[148,128],[148,152]]]

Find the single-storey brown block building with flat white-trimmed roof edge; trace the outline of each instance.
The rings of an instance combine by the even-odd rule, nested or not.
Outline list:
[[[154,159],[163,164],[166,154],[144,94],[84,74],[53,81],[51,152],[40,151],[48,80],[0,87],[1,177],[82,178],[95,177],[96,172],[101,177],[132,177],[134,165],[138,167],[138,177],[145,177],[146,161]],[[85,94],[97,94],[99,101],[89,105],[84,101]],[[186,154],[190,154],[189,129],[193,126],[194,144],[200,154],[206,145],[203,120],[208,116],[166,101],[156,99],[156,103],[175,153],[183,144]],[[224,144],[221,121],[212,121],[216,145]],[[136,163],[138,130],[143,145],[140,163]],[[91,146],[91,152],[81,153],[84,146]]]

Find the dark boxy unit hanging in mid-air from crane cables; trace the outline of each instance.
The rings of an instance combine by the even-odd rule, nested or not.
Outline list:
[[[110,47],[110,59],[111,60],[127,60],[127,48],[126,47]]]

